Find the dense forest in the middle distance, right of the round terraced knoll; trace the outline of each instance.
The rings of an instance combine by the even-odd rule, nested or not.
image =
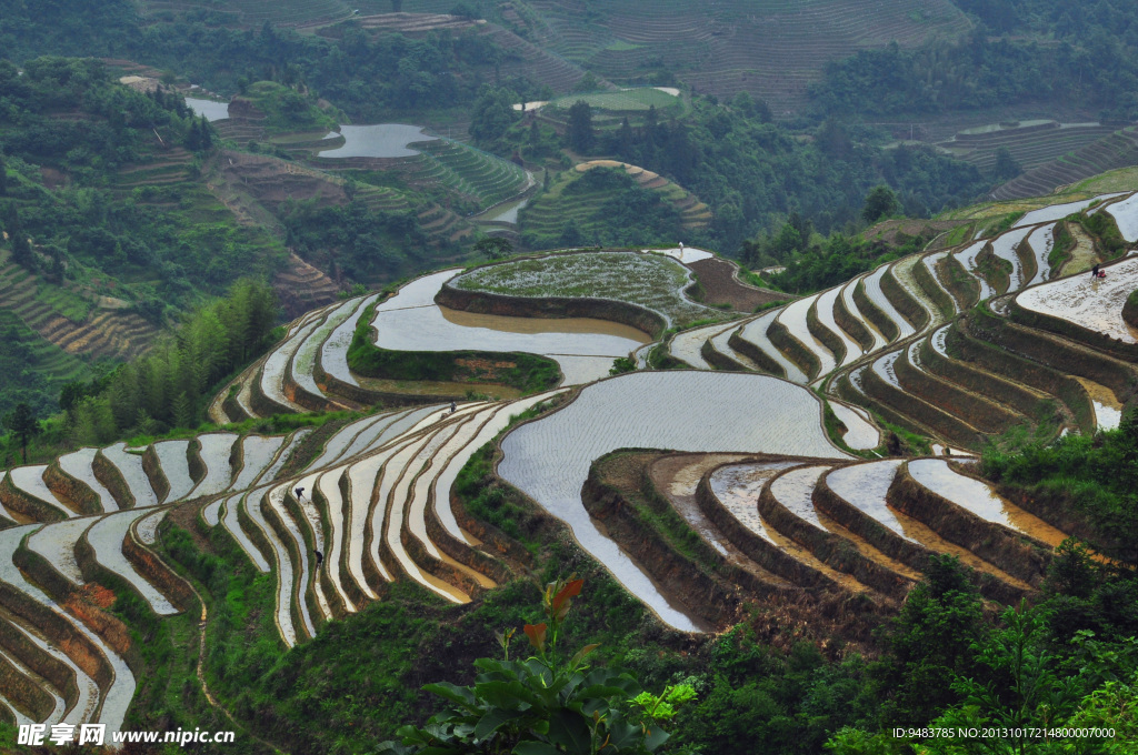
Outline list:
[[[547,140],[521,123],[520,114],[511,118],[503,109],[513,96],[479,99],[480,140],[502,154],[539,159],[549,152]],[[729,105],[696,98],[683,118],[661,119],[653,108],[642,124],[625,118],[616,128],[594,126],[592,114],[585,113],[576,126],[570,122],[566,142],[660,173],[694,192],[715,210],[706,238],[694,242],[732,255],[744,239],[777,232],[791,213],[809,218],[823,233],[851,231],[871,189],[882,183],[898,194],[897,211],[925,217],[967,204],[995,182],[931,148],[882,149],[874,144],[875,135],[836,118],[794,133],[772,123],[747,96]],[[613,227],[619,234],[616,230],[625,225]]]

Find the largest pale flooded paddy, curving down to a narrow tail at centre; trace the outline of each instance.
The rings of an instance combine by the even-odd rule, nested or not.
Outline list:
[[[582,547],[665,622],[688,631],[695,629],[691,617],[585,509],[580,489],[592,462],[618,448],[846,457],[826,439],[806,389],[769,376],[707,372],[633,373],[587,385],[564,408],[517,428],[502,448],[500,476],[569,524]]]

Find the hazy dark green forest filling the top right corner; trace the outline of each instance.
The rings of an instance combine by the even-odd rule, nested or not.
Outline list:
[[[823,115],[937,115],[1081,108],[1138,117],[1138,8],[1110,0],[965,0],[980,24],[959,42],[891,45],[826,65],[811,89]]]

